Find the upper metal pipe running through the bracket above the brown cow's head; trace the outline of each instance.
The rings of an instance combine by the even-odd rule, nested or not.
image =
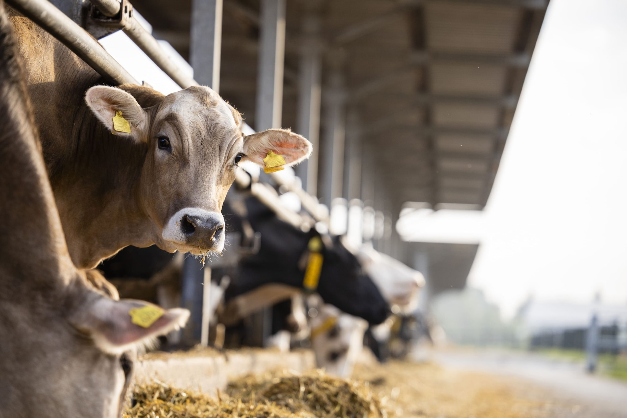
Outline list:
[[[117,14],[120,13],[120,7],[122,7],[122,3],[117,0],[90,1],[98,8],[100,13],[108,17],[117,16]],[[135,16],[132,15],[132,10],[123,11],[122,13],[129,13],[127,19],[122,19],[122,31],[149,56],[150,60],[154,61],[154,63],[172,78],[177,85],[181,86],[181,88],[198,85],[196,80],[181,71],[181,68],[164,53],[161,49],[161,45],[159,45],[159,41],[135,19]]]

